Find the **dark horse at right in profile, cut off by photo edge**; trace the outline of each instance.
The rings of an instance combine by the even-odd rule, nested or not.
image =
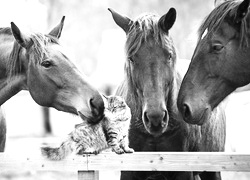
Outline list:
[[[218,3],[201,24],[177,101],[186,122],[205,123],[229,94],[250,83],[249,3]]]

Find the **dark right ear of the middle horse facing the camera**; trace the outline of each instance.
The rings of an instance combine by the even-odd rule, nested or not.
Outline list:
[[[160,18],[158,25],[164,32],[167,33],[174,25],[175,20],[176,10],[175,8],[170,8],[169,11]]]

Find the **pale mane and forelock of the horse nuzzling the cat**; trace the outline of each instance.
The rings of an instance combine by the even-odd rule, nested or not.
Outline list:
[[[50,35],[33,33],[29,37],[30,40],[32,41],[32,45],[29,49],[27,49],[27,53],[29,54],[30,59],[35,61],[35,63],[41,63],[44,57],[47,56],[47,50],[46,50],[47,44],[49,43],[59,44],[58,39]],[[8,69],[7,77],[9,80],[11,80],[12,77],[22,73],[23,71],[24,67],[20,59],[20,52],[22,49],[23,47],[20,44],[18,44],[17,41],[15,41],[12,47],[12,51],[9,55],[9,60],[7,62],[7,69]]]

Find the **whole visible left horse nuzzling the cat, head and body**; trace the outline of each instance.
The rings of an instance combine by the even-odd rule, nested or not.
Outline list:
[[[0,28],[0,107],[19,91],[28,90],[41,106],[79,115],[89,123],[103,118],[100,93],[59,43],[64,19],[48,34],[23,33],[13,22],[10,28]],[[0,117],[3,152],[6,123],[1,111]]]

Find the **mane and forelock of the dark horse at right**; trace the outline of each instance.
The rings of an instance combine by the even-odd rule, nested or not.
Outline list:
[[[221,25],[221,23],[230,17],[235,19],[237,15],[237,9],[241,1],[228,0],[215,7],[213,11],[204,19],[198,30],[198,41],[202,39],[204,32],[207,30],[207,34],[211,35],[215,32]],[[228,21],[228,23],[231,23]],[[240,24],[240,45],[248,46],[247,43],[247,22],[246,18],[242,19]]]

